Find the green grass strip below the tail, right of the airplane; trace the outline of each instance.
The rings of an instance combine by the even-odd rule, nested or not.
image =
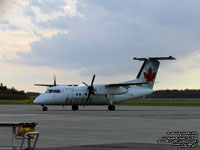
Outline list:
[[[200,106],[200,99],[133,99],[119,106]]]

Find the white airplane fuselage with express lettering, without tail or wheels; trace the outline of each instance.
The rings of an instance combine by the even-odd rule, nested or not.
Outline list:
[[[129,86],[127,88],[105,88],[105,85],[94,85],[96,89],[88,99],[88,87],[80,86],[54,86],[35,100],[39,105],[112,105],[133,98],[153,93],[150,88]]]

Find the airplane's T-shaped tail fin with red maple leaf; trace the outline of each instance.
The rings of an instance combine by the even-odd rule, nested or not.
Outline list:
[[[156,75],[158,72],[158,68],[160,65],[159,60],[175,60],[174,57],[150,57],[150,58],[133,58],[134,60],[144,61],[138,75],[137,81],[138,82],[146,82],[148,84],[144,84],[143,87],[146,88],[153,88]]]

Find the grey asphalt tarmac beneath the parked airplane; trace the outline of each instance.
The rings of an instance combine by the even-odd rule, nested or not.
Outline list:
[[[38,150],[180,150],[158,140],[172,136],[168,131],[200,133],[200,107],[116,106],[107,111],[106,106],[90,106],[72,111],[70,106],[51,106],[42,112],[35,105],[0,105],[0,121],[37,122]],[[0,149],[11,146],[11,131],[0,128]]]

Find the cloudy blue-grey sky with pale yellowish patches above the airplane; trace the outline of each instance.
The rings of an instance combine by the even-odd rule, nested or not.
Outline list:
[[[169,56],[155,89],[200,86],[199,0],[0,0],[0,80],[34,83],[132,80],[133,57]]]

